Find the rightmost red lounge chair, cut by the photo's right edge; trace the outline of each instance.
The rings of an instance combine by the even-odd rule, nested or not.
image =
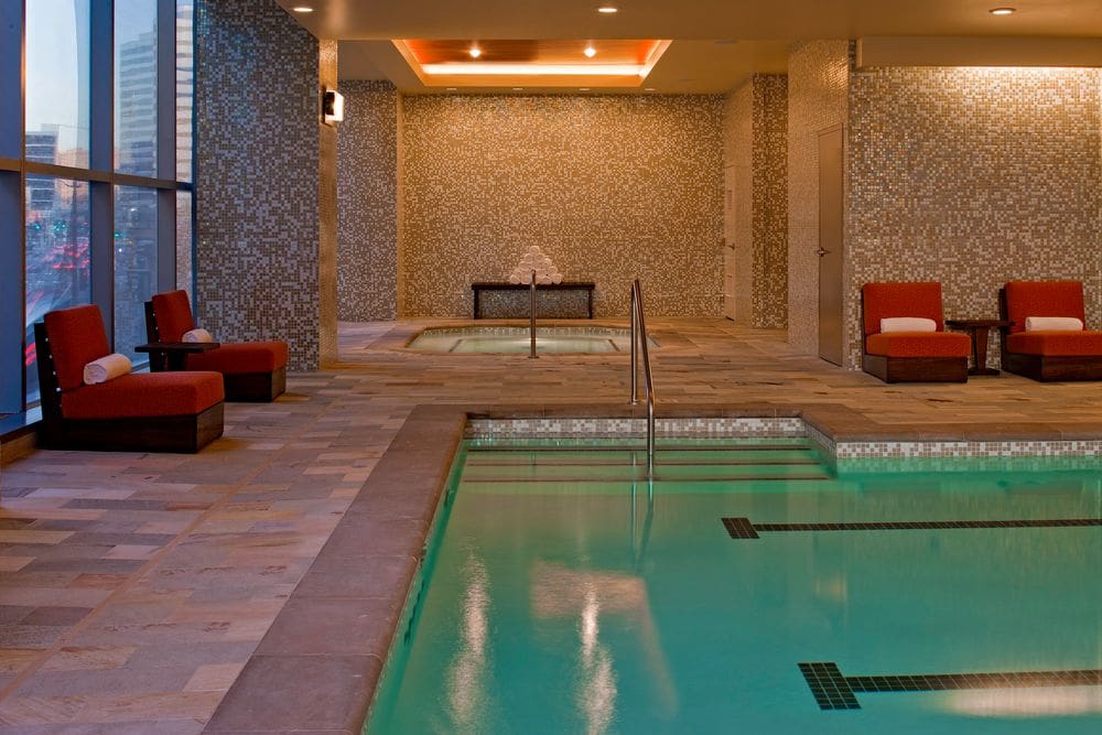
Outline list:
[[[1034,380],[1102,380],[1102,332],[1026,332],[1030,316],[1071,316],[1087,324],[1079,281],[1011,281],[998,292],[1002,359],[1007,372]]]

